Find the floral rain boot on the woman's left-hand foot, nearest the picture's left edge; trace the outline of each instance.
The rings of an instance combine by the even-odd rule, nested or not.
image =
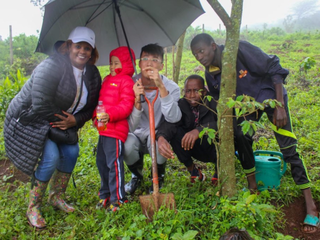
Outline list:
[[[31,185],[31,190],[29,193],[29,206],[26,210],[26,218],[32,227],[37,230],[46,227],[46,222],[41,213],[42,198],[45,193],[47,182],[42,182],[34,179],[33,186]]]

